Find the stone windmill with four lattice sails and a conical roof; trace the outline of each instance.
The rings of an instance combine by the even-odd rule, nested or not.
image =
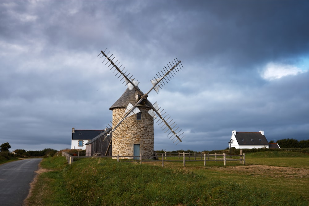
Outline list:
[[[156,123],[160,126],[164,133],[167,133],[167,137],[176,143],[176,145],[181,142],[184,137],[184,132],[178,130],[177,124],[170,120],[170,117],[161,108],[157,102],[154,104],[150,103],[147,99],[148,94],[155,90],[159,92],[172,77],[180,72],[183,68],[181,61],[177,58],[173,59],[171,63],[164,66],[160,70],[156,77],[152,78],[150,81],[152,87],[146,93],[138,87],[138,81],[133,78],[133,75],[125,70],[125,67],[121,69],[122,65],[118,60],[114,61],[115,57],[101,51],[98,56],[100,58],[104,57],[103,63],[108,64],[110,70],[113,69],[113,74],[125,83],[128,87],[123,95],[112,105],[110,108],[113,111],[112,119],[112,130],[109,132],[108,136],[112,134],[112,154],[115,156],[119,154],[120,156],[139,156],[141,153],[143,156],[151,157],[154,152],[154,132],[153,132],[153,122],[157,120]],[[120,65],[118,67],[118,65]],[[164,112],[163,112],[164,111]],[[108,150],[108,149],[107,149]],[[152,157],[151,157],[152,158]]]

